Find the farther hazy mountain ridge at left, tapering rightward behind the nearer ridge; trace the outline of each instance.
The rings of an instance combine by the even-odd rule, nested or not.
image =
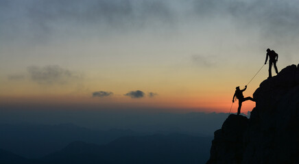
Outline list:
[[[61,150],[72,141],[99,145],[129,135],[144,135],[130,130],[93,131],[73,124],[0,124],[0,148],[25,156],[40,158]]]

